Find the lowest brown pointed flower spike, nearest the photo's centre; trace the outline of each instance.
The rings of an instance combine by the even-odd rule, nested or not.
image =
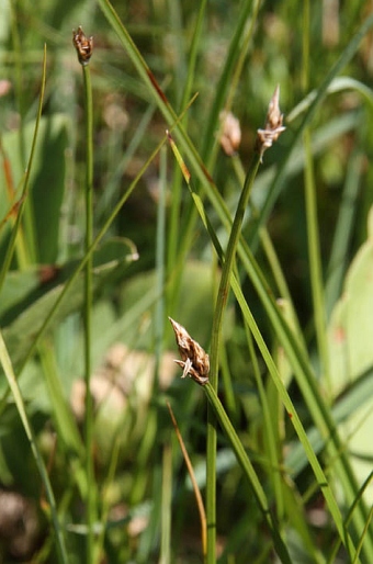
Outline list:
[[[182,358],[182,360],[174,361],[183,369],[181,377],[185,377],[189,374],[197,384],[206,384],[210,372],[208,354],[201,345],[192,339],[182,325],[171,319],[171,317],[169,319],[174,330],[180,357]]]

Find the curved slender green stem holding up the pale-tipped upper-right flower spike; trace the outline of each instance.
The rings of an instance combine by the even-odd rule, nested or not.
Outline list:
[[[237,245],[240,236],[245,211],[247,208],[250,190],[253,184],[258,168],[260,165],[260,156],[256,153],[239,198],[234,223],[229,235],[227,251],[223,262],[222,278],[217,293],[216,307],[214,313],[212,345],[211,345],[211,372],[210,382],[217,391],[218,384],[218,362],[219,348],[222,338],[223,317],[226,308],[229,287],[230,274],[234,268]],[[207,461],[206,461],[206,516],[207,516],[207,562],[213,564],[216,561],[216,418],[214,410],[208,407],[207,411]]]

